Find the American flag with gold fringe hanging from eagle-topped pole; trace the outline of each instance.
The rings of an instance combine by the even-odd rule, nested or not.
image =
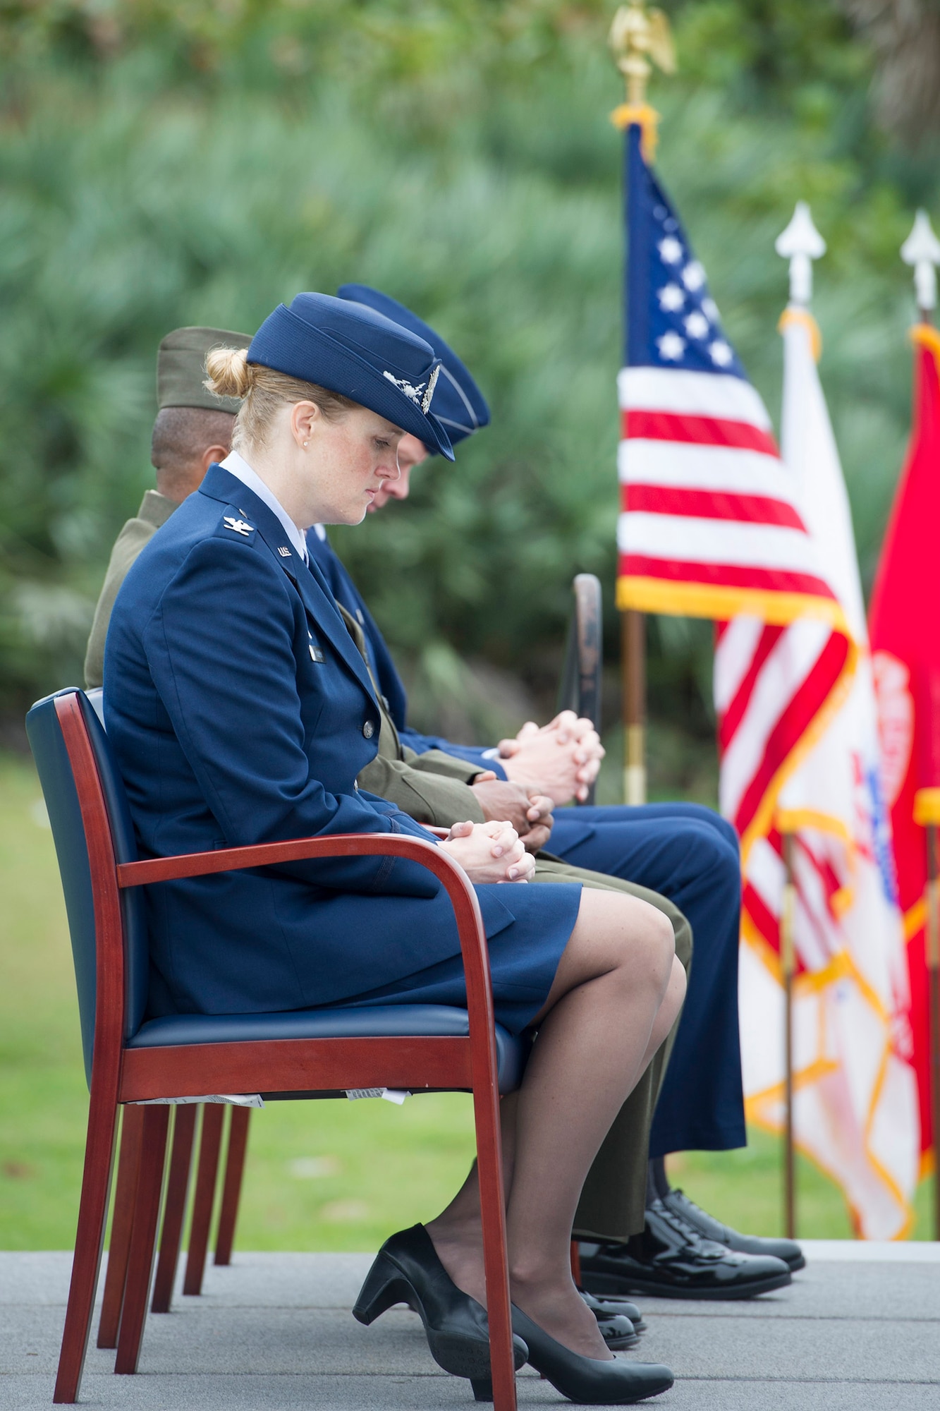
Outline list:
[[[721,811],[747,859],[772,830],[788,765],[847,669],[845,619],[771,418],[644,159],[638,126],[627,133],[625,186],[617,605],[718,624]]]

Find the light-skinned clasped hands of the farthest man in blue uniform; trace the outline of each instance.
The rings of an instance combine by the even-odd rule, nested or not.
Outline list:
[[[515,739],[500,741],[500,756],[514,783],[539,789],[560,807],[572,799],[587,799],[604,746],[589,720],[562,711],[542,729],[528,721]]]

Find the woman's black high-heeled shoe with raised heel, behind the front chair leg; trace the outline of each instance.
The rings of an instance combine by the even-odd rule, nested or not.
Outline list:
[[[408,1304],[418,1314],[439,1367],[469,1377],[474,1393],[476,1383],[490,1380],[487,1311],[453,1283],[423,1225],[385,1240],[366,1276],[353,1318],[368,1325],[392,1304]],[[529,1356],[522,1338],[512,1338],[512,1352],[518,1371]]]

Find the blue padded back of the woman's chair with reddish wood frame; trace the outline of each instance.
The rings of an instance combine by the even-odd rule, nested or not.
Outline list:
[[[86,838],[86,818],[102,809],[97,796],[79,796],[72,762],[56,714],[61,697],[75,696],[82,724],[92,749],[102,786],[103,809],[113,864],[137,861],[137,840],[127,806],[124,783],[119,773],[107,735],[85,691],[68,687],[37,701],[27,715],[27,735],[35,759],[45,807],[52,825],[52,840],[59,861],[65,910],[72,940],[75,982],[78,986],[79,1019],[85,1075],[92,1078],[95,1046],[95,1010],[97,996],[99,937],[95,921],[95,883]],[[90,793],[90,792],[89,792]],[[147,945],[147,916],[140,888],[120,893],[124,975],[124,1038],[131,1038],[144,1020],[150,957]]]

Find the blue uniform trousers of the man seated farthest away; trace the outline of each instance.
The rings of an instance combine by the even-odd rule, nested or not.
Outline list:
[[[565,862],[659,892],[692,926],[692,974],[649,1134],[651,1157],[747,1146],[734,828],[700,804],[560,809],[548,847]]]

